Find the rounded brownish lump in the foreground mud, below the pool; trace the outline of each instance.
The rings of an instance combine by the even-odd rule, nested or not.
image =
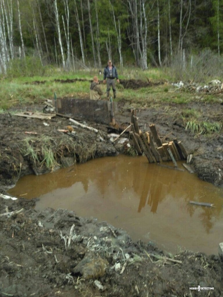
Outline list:
[[[94,253],[87,253],[74,268],[74,273],[80,273],[84,279],[98,278],[105,275],[108,262]]]

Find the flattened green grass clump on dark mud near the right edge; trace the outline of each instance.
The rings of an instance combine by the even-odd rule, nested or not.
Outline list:
[[[222,125],[219,123],[210,122],[198,122],[197,120],[188,121],[186,124],[186,130],[191,131],[194,134],[209,134],[209,133],[219,133],[222,130]]]

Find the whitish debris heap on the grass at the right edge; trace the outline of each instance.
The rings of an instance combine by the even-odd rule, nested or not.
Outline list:
[[[184,91],[189,91],[192,93],[208,93],[208,94],[220,94],[223,93],[223,83],[220,80],[212,80],[208,85],[201,86],[198,83],[193,81],[189,83],[172,83],[172,86],[177,87],[178,89],[183,89]]]

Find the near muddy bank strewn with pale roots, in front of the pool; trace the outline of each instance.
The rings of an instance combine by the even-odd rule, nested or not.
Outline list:
[[[223,296],[218,256],[174,256],[106,222],[33,206],[0,199],[0,296]],[[214,290],[190,291],[198,285]]]

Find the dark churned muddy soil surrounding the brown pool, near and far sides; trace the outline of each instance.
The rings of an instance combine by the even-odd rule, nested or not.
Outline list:
[[[122,128],[130,122],[128,104],[124,100],[120,102],[120,112],[116,115]],[[180,116],[185,107],[188,106],[170,104],[168,112],[166,104],[157,109],[138,109],[139,128],[148,131],[149,124],[156,124],[160,137],[172,132],[167,140],[182,141],[193,154],[191,167],[197,175],[222,187],[223,135],[194,138],[185,130]],[[29,107],[30,110],[42,108]],[[204,120],[222,120],[220,104],[192,103],[190,108],[202,110]],[[120,132],[114,127],[87,122],[100,129],[100,135],[82,128],[75,129],[74,134],[65,134],[57,130],[67,129],[69,119],[56,116],[45,122],[49,126],[39,119],[14,116],[12,112],[1,114],[0,192],[4,193],[25,174],[42,174],[74,162],[127,153],[125,145],[114,146],[109,141],[108,133]],[[38,134],[28,135],[26,131]],[[25,151],[27,142],[37,151],[35,162]],[[51,169],[44,162],[44,146],[51,148],[57,162]],[[189,251],[169,255],[152,243],[133,243],[123,230],[106,222],[99,224],[97,219],[84,219],[62,209],[40,213],[34,210],[34,204],[34,200],[0,199],[0,296],[223,296],[223,262],[218,256]],[[19,214],[1,216],[21,208]],[[126,261],[127,266],[120,274]],[[116,265],[115,271],[117,263],[120,269]],[[96,279],[101,282],[102,290],[95,285]],[[214,290],[190,292],[190,287],[198,285]]]

